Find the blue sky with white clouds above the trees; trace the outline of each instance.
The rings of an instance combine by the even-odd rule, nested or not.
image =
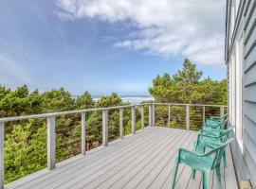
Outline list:
[[[148,94],[156,75],[173,75],[185,58],[204,77],[226,77],[224,3],[173,1],[1,1],[0,84]]]

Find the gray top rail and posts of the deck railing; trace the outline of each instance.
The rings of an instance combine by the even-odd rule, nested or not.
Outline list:
[[[153,127],[155,125],[166,126],[170,128],[175,128],[175,124],[182,125],[183,122],[186,127],[184,129],[195,129],[191,128],[192,124],[201,126],[205,122],[206,117],[210,115],[223,115],[227,110],[227,106],[223,105],[202,105],[202,104],[176,104],[176,103],[144,103],[137,105],[127,105],[127,106],[117,106],[117,107],[107,107],[107,108],[96,108],[96,109],[87,109],[87,110],[78,110],[78,111],[69,111],[69,112],[52,112],[44,114],[35,114],[35,115],[25,115],[17,117],[6,117],[0,118],[0,188],[4,188],[4,175],[5,175],[5,126],[8,122],[15,122],[21,120],[35,119],[35,118],[44,118],[46,119],[46,148],[47,148],[47,168],[52,170],[56,167],[56,117],[67,114],[77,114],[80,113],[81,116],[81,153],[85,155],[86,151],[86,114],[89,112],[101,112],[102,116],[102,128],[101,128],[101,145],[108,145],[108,114],[109,111],[119,111],[119,138],[123,138],[123,111],[124,109],[131,109],[131,134],[136,134],[137,127],[137,110],[140,112],[140,129],[145,127],[145,107],[148,107],[148,127]],[[156,109],[155,109],[156,107]],[[162,118],[157,113],[159,107],[163,107],[162,111],[166,111],[166,117]],[[184,117],[183,121],[174,120],[177,113],[174,108],[179,108],[180,117]],[[210,114],[207,114],[207,108],[210,108]],[[174,109],[174,110],[173,110]],[[200,109],[200,111],[198,111]],[[212,111],[213,109],[217,110],[216,112]],[[173,112],[172,112],[173,111]],[[184,111],[184,112],[183,112]],[[200,119],[195,119],[191,116],[192,112],[200,114]],[[176,113],[176,114],[175,114]],[[162,115],[162,114],[161,114]],[[173,119],[172,119],[173,117]],[[162,124],[159,119],[167,119]],[[178,119],[178,118],[175,118]],[[182,128],[182,127],[177,127]]]

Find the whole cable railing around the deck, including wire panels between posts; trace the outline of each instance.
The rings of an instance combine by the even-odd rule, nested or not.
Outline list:
[[[106,114],[102,117],[104,111]],[[1,135],[4,137],[0,137],[1,143],[5,143],[5,150],[1,154],[4,154],[5,159],[0,162],[5,170],[0,173],[0,178],[5,178],[5,183],[8,183],[46,167],[52,169],[55,163],[82,154],[82,144],[84,153],[101,146],[105,140],[103,136],[107,137],[107,144],[149,126],[197,130],[210,116],[226,112],[227,106],[222,105],[143,103],[0,118],[0,129],[5,130],[5,134]],[[54,122],[47,122],[50,117]],[[102,126],[103,120],[106,122],[106,130]],[[84,132],[82,125],[85,126]],[[55,133],[48,135],[49,127],[54,127]],[[24,143],[17,143],[19,140]],[[52,140],[55,146],[49,150],[48,143]],[[54,161],[49,163],[47,157],[50,155],[53,155]],[[4,180],[0,182],[4,183]]]

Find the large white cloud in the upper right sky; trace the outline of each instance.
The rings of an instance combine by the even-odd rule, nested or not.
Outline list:
[[[115,46],[163,57],[181,55],[201,64],[222,64],[223,0],[57,0],[64,19],[96,17],[129,21],[137,31]]]

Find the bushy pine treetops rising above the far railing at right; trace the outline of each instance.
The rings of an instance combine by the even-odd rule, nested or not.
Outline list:
[[[185,60],[183,68],[173,77],[164,74],[153,79],[149,93],[158,102],[190,104],[227,104],[227,79],[201,79],[202,72]]]

